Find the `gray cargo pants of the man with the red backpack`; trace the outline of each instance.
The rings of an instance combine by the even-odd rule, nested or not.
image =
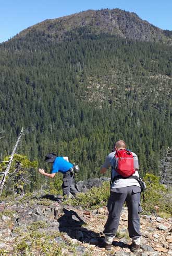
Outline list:
[[[128,207],[128,232],[130,238],[139,238],[140,233],[140,217],[142,212],[140,206],[140,192],[141,188],[138,186],[128,186],[116,188],[116,192],[110,192],[107,203],[109,212],[108,219],[104,226],[103,233],[105,235],[116,235],[120,213],[122,206],[126,202]]]

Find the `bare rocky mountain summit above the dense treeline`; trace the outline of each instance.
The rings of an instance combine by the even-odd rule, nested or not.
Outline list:
[[[65,40],[66,33],[85,29],[90,34],[108,34],[138,41],[171,41],[172,32],[159,29],[148,21],[142,20],[136,13],[121,9],[86,10],[80,13],[46,19],[20,32],[19,37],[28,32],[44,32],[53,39]]]

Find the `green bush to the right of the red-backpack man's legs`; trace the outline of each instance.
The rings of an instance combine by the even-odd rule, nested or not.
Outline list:
[[[159,207],[159,212],[172,214],[172,193],[159,183],[159,177],[153,174],[145,175],[145,211],[155,212],[155,206]]]

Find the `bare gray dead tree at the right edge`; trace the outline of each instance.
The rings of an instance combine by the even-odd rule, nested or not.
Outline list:
[[[168,147],[165,157],[161,160],[160,181],[166,186],[172,186],[172,148]]]

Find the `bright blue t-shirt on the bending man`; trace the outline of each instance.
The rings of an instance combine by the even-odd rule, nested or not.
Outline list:
[[[72,166],[73,164],[66,161],[63,157],[56,157],[53,163],[52,173],[67,172]]]

